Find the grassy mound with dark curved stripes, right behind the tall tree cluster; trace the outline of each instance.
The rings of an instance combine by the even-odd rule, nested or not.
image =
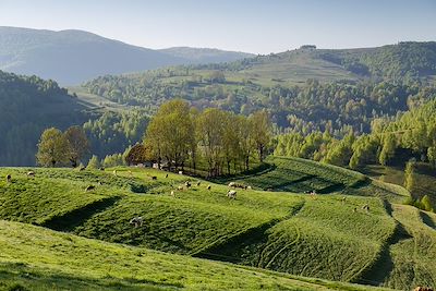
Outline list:
[[[232,178],[262,190],[376,196],[402,202],[410,195],[404,189],[380,183],[368,177],[332,165],[294,157],[269,157],[270,166],[253,175]]]

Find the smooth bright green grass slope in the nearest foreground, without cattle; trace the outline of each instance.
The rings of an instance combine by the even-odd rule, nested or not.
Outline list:
[[[110,244],[3,220],[0,248],[1,290],[368,289]]]

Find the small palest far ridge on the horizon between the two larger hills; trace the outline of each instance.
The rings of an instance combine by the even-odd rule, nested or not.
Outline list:
[[[174,47],[160,49],[159,51],[177,58],[190,60],[192,63],[232,62],[244,58],[254,57],[252,53],[210,48]]]

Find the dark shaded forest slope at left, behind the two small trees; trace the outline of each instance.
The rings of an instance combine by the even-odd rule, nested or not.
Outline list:
[[[38,140],[45,129],[80,125],[90,151],[105,157],[142,140],[148,118],[134,112],[101,112],[83,105],[51,80],[0,71],[0,166],[36,163]]]

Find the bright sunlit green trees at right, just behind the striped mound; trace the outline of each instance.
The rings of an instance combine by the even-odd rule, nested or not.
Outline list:
[[[435,95],[436,97],[436,95]],[[277,137],[275,154],[296,156],[349,166],[389,165],[417,158],[436,165],[436,100],[413,108],[395,119],[375,119],[368,134],[349,131],[335,138],[328,131],[303,135],[299,132]]]

